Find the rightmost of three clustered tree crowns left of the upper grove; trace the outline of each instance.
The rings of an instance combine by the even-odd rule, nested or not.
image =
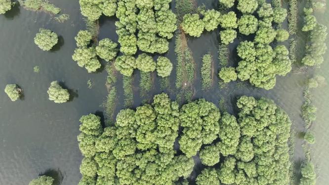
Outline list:
[[[110,38],[104,38],[99,41],[96,46],[96,54],[109,62],[116,58],[119,49],[117,48],[118,44],[113,42]]]

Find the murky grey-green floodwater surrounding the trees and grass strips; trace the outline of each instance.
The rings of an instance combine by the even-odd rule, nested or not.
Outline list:
[[[74,37],[79,30],[85,28],[79,3],[77,0],[51,0],[51,2],[60,7],[62,13],[70,14],[70,20],[57,23],[46,13],[27,11],[22,7],[16,7],[0,16],[0,88],[3,89],[7,83],[17,83],[23,88],[25,95],[24,100],[11,102],[6,94],[0,91],[1,185],[26,185],[31,179],[44,172],[60,173],[63,177],[61,185],[77,185],[81,178],[79,166],[82,160],[77,142],[79,118],[90,112],[103,115],[102,103],[107,95],[105,86],[107,73],[101,70],[97,74],[87,74],[71,58],[76,47]],[[217,0],[196,0],[196,3],[198,5],[204,3],[206,8],[217,7]],[[287,6],[286,2],[284,6]],[[327,26],[329,26],[328,12],[327,10],[317,14],[318,20]],[[99,39],[108,37],[114,41],[118,40],[115,21],[115,18],[101,17]],[[51,29],[60,36],[60,43],[53,51],[41,51],[34,44],[33,38],[41,27]],[[303,35],[298,35],[297,39],[305,42]],[[211,89],[206,92],[201,89],[200,68],[204,54],[210,52],[213,55],[215,74],[218,73],[218,42],[219,31],[205,32],[199,38],[187,37],[196,68],[196,78],[192,85],[193,98],[206,98],[216,105],[219,105],[220,99],[223,98],[227,111],[235,114],[238,96],[248,95],[257,98],[264,96],[273,99],[287,111],[297,133],[303,131],[304,123],[300,117],[300,107],[303,103],[302,91],[307,74],[289,73],[285,77],[277,77],[277,85],[270,91],[254,88],[247,82],[239,81],[231,82],[220,89],[216,76]],[[237,66],[238,43],[239,39],[229,46],[230,66]],[[165,56],[176,64],[174,39],[170,40],[169,49]],[[298,55],[302,53],[298,52]],[[322,74],[329,79],[328,58],[329,52],[325,57],[327,61],[321,69],[312,70],[310,74]],[[35,66],[40,67],[39,73],[33,72]],[[133,76],[133,108],[143,102],[139,97],[139,77],[139,72]],[[89,79],[94,84],[91,89],[87,85]],[[75,95],[73,101],[58,105],[48,100],[46,91],[53,80],[63,82],[71,90],[71,94]],[[120,104],[116,110],[119,111],[124,107],[121,75],[118,75],[117,89]],[[328,90],[329,85],[324,85],[313,91],[313,102],[318,107],[318,118],[312,125],[317,139],[316,144],[312,146],[312,160],[319,170],[318,185],[326,185],[329,180],[327,175],[329,174],[327,154],[329,94],[326,93]],[[164,91],[169,93],[172,99],[175,99],[179,93],[175,91],[175,67],[170,77],[169,88]],[[149,99],[160,92],[162,92],[160,78],[155,77],[152,91],[148,95]],[[297,172],[304,154],[301,149],[303,139],[298,134],[296,137],[294,159]],[[198,163],[192,178],[195,178],[200,168],[202,166]]]

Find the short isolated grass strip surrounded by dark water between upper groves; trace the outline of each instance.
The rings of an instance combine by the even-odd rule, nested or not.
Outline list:
[[[210,54],[204,55],[202,58],[201,77],[202,77],[202,89],[207,90],[212,85],[212,56]]]

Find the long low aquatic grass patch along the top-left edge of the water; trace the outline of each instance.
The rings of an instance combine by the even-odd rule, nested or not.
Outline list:
[[[19,3],[26,9],[33,11],[45,11],[52,14],[58,14],[61,9],[51,4],[48,0],[19,0]]]

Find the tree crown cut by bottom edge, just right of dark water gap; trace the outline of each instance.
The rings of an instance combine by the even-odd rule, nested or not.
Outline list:
[[[217,172],[213,168],[205,168],[196,179],[197,185],[219,185]]]

